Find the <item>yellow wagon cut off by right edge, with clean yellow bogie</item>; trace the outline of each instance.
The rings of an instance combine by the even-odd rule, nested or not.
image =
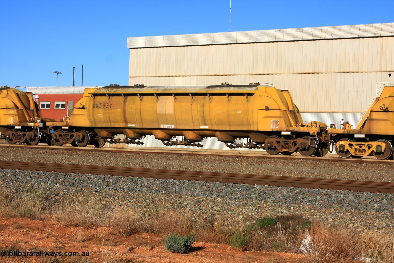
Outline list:
[[[336,152],[340,157],[393,158],[394,86],[383,89],[355,129],[348,122],[341,126],[342,129],[328,129],[336,141]]]

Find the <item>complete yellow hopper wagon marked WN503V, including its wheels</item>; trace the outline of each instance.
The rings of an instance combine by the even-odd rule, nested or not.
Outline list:
[[[265,145],[270,154],[328,151],[322,142],[326,124],[303,124],[288,90],[258,83],[86,89],[66,125],[54,123],[55,145],[140,144],[144,135],[154,135],[167,146],[202,147],[204,137],[216,137],[230,148]],[[125,140],[115,139],[117,134]],[[236,138],[248,138],[248,143],[235,143]]]

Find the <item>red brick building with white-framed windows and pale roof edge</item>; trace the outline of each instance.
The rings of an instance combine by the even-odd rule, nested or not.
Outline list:
[[[74,104],[82,98],[85,88],[99,87],[26,87],[26,91],[34,94],[44,118],[60,121],[64,116],[71,116]]]

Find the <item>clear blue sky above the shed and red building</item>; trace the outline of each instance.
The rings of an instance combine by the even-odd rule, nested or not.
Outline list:
[[[128,85],[127,38],[229,31],[230,0],[0,0],[0,85]],[[394,22],[384,0],[231,1],[231,31]]]

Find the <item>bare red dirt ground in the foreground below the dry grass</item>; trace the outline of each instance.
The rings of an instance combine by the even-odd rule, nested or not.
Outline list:
[[[44,222],[23,218],[0,218],[1,262],[52,262],[53,256],[9,257],[9,248],[20,252],[89,252],[91,262],[303,262],[306,255],[275,252],[240,252],[225,244],[194,242],[188,254],[165,250],[162,238],[152,234],[123,236],[109,227],[76,226],[62,222]],[[5,252],[3,252],[5,251]],[[3,255],[3,254],[2,254]],[[59,256],[58,256],[59,257]],[[61,261],[86,256],[61,256]],[[85,261],[84,261],[85,262]]]

